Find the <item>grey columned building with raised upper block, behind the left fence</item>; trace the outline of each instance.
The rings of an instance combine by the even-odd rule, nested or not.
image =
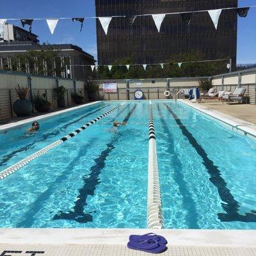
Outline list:
[[[35,61],[31,61],[30,59],[26,63],[19,65],[20,55],[28,54],[28,51],[42,51],[47,49],[58,51],[58,57],[52,61],[38,60],[35,57],[37,58]],[[4,25],[4,36],[0,42],[0,69],[86,80],[88,77],[92,77],[93,74],[92,68],[84,65],[94,64],[95,60],[93,56],[84,52],[77,45],[41,45],[39,44],[37,35],[12,24]]]

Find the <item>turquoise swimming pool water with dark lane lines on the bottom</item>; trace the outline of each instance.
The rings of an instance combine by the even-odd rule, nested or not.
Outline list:
[[[0,181],[1,227],[147,227],[149,102],[120,103],[41,120],[32,136],[1,134],[2,171],[119,106]],[[181,102],[152,111],[165,227],[255,229],[255,141]]]

